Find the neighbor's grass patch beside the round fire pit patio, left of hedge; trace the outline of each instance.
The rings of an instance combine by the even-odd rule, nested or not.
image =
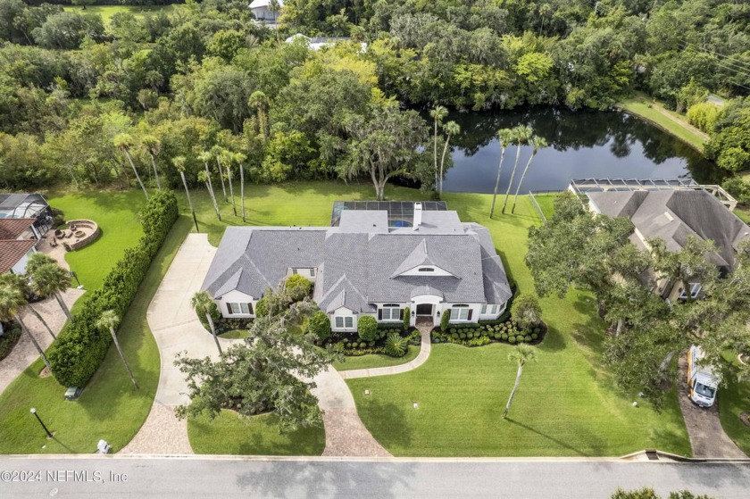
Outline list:
[[[143,191],[83,191],[51,195],[47,201],[63,210],[65,220],[90,219],[102,235],[92,244],[65,254],[65,261],[86,289],[102,286],[102,280],[125,250],[143,235],[138,211],[146,205]],[[73,279],[73,285],[76,285]]]

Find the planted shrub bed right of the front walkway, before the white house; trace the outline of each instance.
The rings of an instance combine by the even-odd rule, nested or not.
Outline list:
[[[487,320],[479,324],[450,325],[446,331],[434,329],[432,343],[455,343],[464,346],[481,346],[490,343],[516,345],[540,344],[546,335],[546,324],[524,331],[514,320]]]

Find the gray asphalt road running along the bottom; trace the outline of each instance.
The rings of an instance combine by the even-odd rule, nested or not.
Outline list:
[[[18,481],[13,481],[18,480]],[[617,487],[750,497],[750,464],[203,458],[0,459],[0,497],[609,498]]]

